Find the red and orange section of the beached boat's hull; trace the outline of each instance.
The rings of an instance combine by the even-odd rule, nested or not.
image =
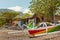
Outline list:
[[[50,28],[47,28],[49,32],[50,30],[52,30],[54,27],[50,27]],[[46,33],[46,28],[44,29],[31,29],[31,30],[28,30],[29,34],[32,35],[32,36],[35,36],[35,35],[39,35],[39,34],[44,34]]]

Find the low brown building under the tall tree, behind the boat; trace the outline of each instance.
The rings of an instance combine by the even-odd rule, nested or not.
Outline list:
[[[41,18],[42,21],[40,20],[40,18]],[[53,20],[51,20],[50,18],[48,18],[48,19],[50,19],[50,20],[48,20],[48,19],[45,19],[44,17],[40,17],[40,18],[36,14],[34,14],[30,17],[19,18],[18,20],[14,20],[13,23],[15,23],[15,25],[16,25],[16,24],[18,24],[18,21],[21,21],[21,25],[28,24],[29,20],[32,20],[32,19],[35,19],[35,21],[36,21],[35,24],[38,24],[39,22],[54,23],[54,18],[53,18]],[[58,21],[60,21],[60,15],[56,15],[56,22],[58,22]]]

